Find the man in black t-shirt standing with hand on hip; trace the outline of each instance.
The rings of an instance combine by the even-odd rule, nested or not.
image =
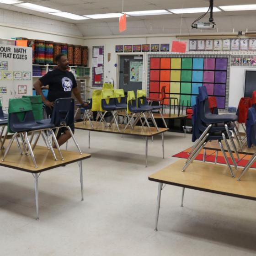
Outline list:
[[[53,69],[53,71],[50,71],[46,75],[39,78],[39,80],[37,80],[33,85],[37,91],[37,95],[42,96],[43,103],[46,106],[47,116],[51,116],[54,101],[56,99],[70,98],[72,92],[83,107],[87,106],[87,103],[84,103],[81,99],[80,93],[77,89],[75,76],[71,72],[67,71],[67,69],[69,69],[69,60],[67,59],[66,55],[56,55],[55,62],[57,63],[58,68]],[[45,85],[49,85],[47,99],[43,96],[41,89],[41,87]],[[70,128],[74,133],[74,124],[71,125]],[[71,135],[66,128],[60,129],[60,132],[57,135],[59,145],[64,144],[70,138]]]

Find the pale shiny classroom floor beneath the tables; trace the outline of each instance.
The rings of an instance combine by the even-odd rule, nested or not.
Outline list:
[[[31,174],[0,167],[0,255],[3,256],[240,256],[256,255],[256,202],[166,186],[154,231],[158,184],[148,176],[178,160],[191,135],[165,133],[149,140],[76,130],[83,152],[85,201],[77,163],[39,177],[35,218]],[[75,150],[72,141],[69,150]],[[189,169],[188,169],[189,171]]]

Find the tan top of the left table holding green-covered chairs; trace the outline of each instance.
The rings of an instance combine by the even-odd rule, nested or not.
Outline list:
[[[9,141],[7,141],[7,143],[9,143]],[[7,147],[7,143],[5,143],[5,148]],[[61,150],[64,157],[64,160],[62,161],[59,157],[58,150],[54,149],[54,151],[58,159],[57,161],[53,159],[53,155],[50,149],[47,149],[46,147],[43,147],[43,146],[36,146],[33,152],[37,161],[38,168],[35,168],[35,166],[33,165],[31,156],[21,155],[16,146],[16,142],[14,141],[9,153],[5,157],[5,161],[3,162],[0,159],[0,166],[5,166],[12,169],[20,170],[20,171],[38,173],[38,172],[54,169],[64,164],[67,165],[67,164],[91,157],[90,154],[85,154],[85,153],[80,155],[78,151],[75,152],[75,151]],[[2,158],[3,152],[4,150],[2,150],[1,152],[1,158]]]

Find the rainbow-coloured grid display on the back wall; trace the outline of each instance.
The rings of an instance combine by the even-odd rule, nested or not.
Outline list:
[[[218,108],[225,108],[228,58],[151,57],[149,59],[149,96],[158,97],[161,88],[179,104],[196,103],[198,87],[206,86],[208,95],[215,96]],[[164,102],[169,104],[169,99]],[[171,100],[171,104],[174,104]]]

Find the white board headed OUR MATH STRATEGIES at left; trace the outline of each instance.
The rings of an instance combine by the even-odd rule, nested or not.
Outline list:
[[[32,95],[32,48],[0,44],[0,100],[4,112],[9,98]]]

